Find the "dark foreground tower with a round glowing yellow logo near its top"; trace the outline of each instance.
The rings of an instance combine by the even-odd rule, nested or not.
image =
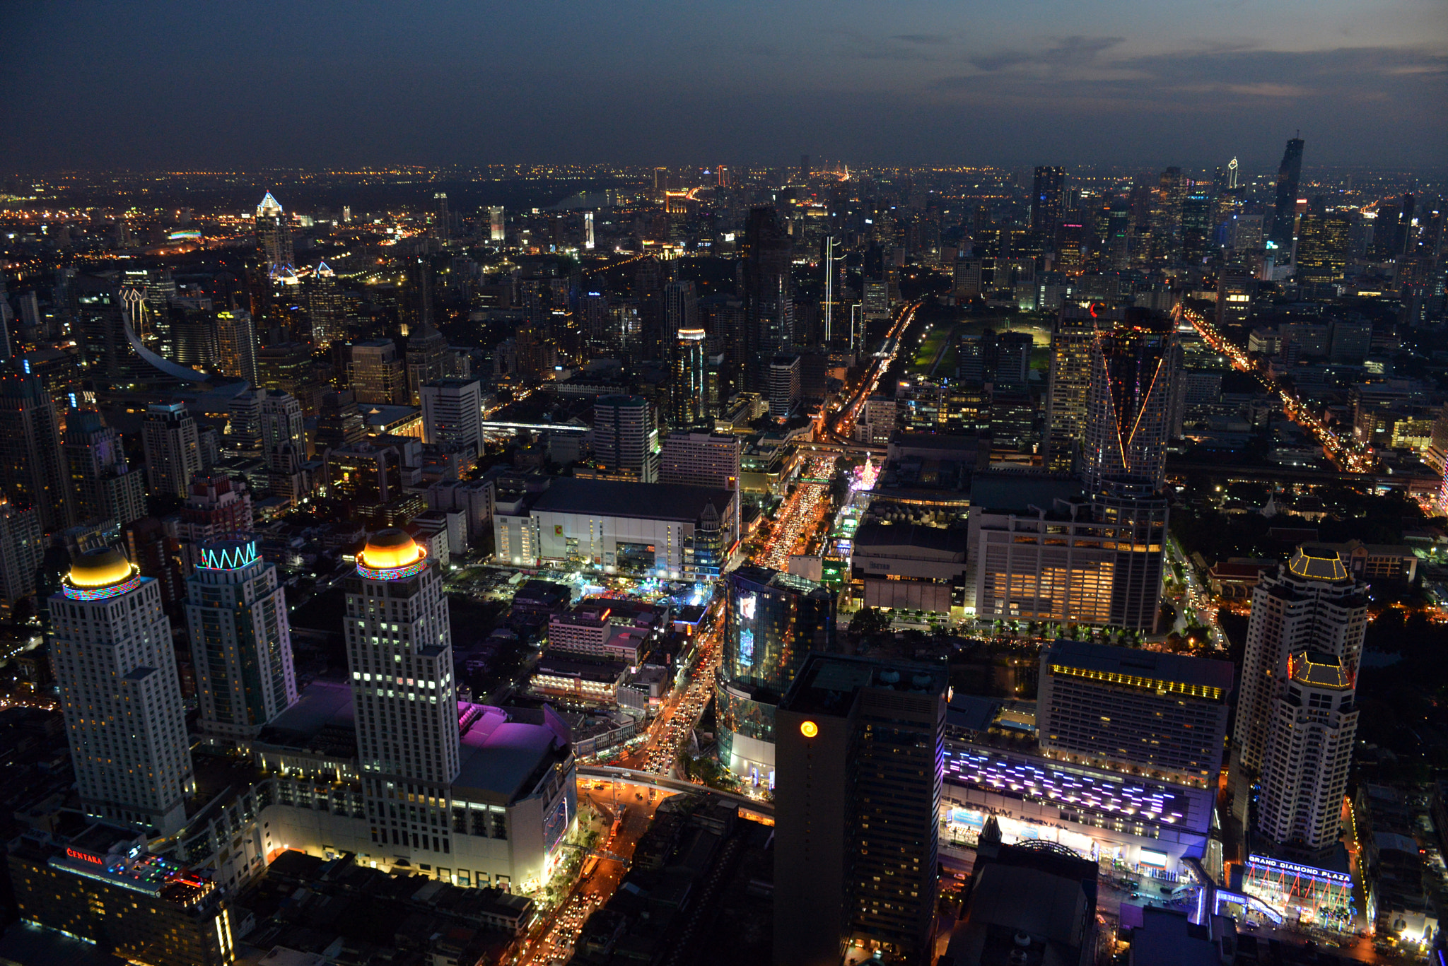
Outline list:
[[[776,713],[775,963],[930,963],[947,675],[809,655]]]

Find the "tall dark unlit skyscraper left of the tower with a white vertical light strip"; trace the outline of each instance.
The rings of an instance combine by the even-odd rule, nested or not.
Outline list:
[[[769,359],[795,339],[794,252],[773,207],[750,209],[740,249],[744,278],[744,387],[763,392]]]

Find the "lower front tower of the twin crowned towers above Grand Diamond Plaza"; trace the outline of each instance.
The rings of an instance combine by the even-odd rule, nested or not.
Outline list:
[[[1358,710],[1354,675],[1335,655],[1295,647],[1271,702],[1257,831],[1312,862],[1338,847]],[[1239,713],[1238,713],[1239,714]]]

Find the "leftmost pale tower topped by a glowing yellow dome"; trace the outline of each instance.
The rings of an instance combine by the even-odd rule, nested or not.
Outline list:
[[[161,588],[119,550],[71,560],[51,643],[85,812],[171,834],[194,791],[185,707]]]

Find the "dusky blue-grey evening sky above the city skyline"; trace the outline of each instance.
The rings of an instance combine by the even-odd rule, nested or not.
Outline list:
[[[1442,0],[0,6],[0,167],[1448,158]]]

